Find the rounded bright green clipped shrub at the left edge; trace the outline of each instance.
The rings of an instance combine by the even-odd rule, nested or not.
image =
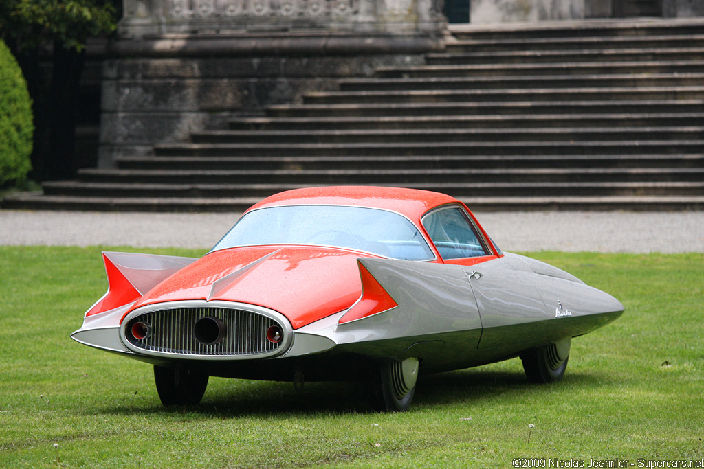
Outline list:
[[[32,100],[10,49],[0,40],[0,186],[32,169]]]

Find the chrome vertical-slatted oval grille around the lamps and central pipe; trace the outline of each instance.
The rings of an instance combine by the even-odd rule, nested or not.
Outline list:
[[[203,318],[215,318],[225,325],[225,337],[211,345],[196,340],[196,322]],[[130,330],[134,323],[145,323],[151,328],[143,339],[135,338]],[[127,323],[125,337],[139,349],[186,355],[241,356],[274,352],[281,342],[267,339],[267,330],[278,326],[278,321],[243,309],[215,307],[183,307],[162,309],[139,314]]]

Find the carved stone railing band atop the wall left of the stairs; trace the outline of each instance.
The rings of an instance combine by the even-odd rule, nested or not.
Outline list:
[[[444,0],[123,0],[123,36],[327,30],[423,34],[446,26]]]

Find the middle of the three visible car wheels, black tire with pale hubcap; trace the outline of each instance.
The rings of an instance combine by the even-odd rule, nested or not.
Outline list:
[[[413,402],[418,377],[418,359],[389,361],[379,366],[376,380],[375,409],[405,412]]]

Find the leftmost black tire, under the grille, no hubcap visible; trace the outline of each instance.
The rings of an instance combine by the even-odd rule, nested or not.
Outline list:
[[[208,387],[208,375],[157,365],[154,365],[154,381],[165,406],[197,406]]]

